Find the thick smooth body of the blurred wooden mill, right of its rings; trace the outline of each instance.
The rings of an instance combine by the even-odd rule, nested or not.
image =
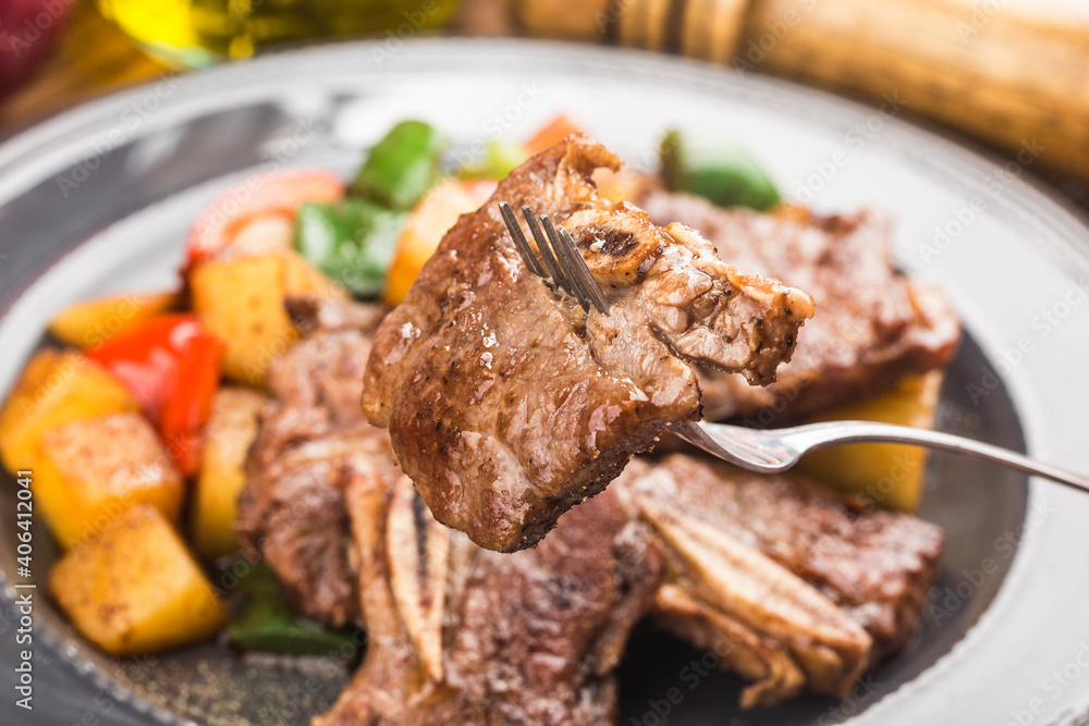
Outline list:
[[[908,111],[987,139],[1023,165],[1038,151],[1042,163],[1089,179],[1089,23],[1000,2],[809,4],[768,51],[769,67],[874,98],[896,94]],[[771,33],[793,8],[796,0],[759,0],[746,36]]]

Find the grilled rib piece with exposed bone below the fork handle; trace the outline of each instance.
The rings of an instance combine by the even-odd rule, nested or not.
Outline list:
[[[611,489],[665,542],[656,622],[756,681],[746,706],[845,696],[915,632],[943,546],[915,517],[684,454],[636,459]]]

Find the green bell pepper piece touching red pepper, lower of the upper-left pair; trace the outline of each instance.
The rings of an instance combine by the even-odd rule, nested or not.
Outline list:
[[[375,297],[407,219],[364,199],[306,204],[295,218],[295,249],[356,297]]]

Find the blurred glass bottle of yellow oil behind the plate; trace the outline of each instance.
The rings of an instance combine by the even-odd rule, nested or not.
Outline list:
[[[351,35],[406,39],[442,27],[458,0],[98,0],[150,54],[199,67],[278,42]]]

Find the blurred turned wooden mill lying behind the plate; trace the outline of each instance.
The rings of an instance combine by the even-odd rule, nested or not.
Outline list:
[[[1038,153],[1042,167],[1089,180],[1086,12],[1008,0],[514,0],[514,11],[533,35],[894,96],[1023,165]]]

